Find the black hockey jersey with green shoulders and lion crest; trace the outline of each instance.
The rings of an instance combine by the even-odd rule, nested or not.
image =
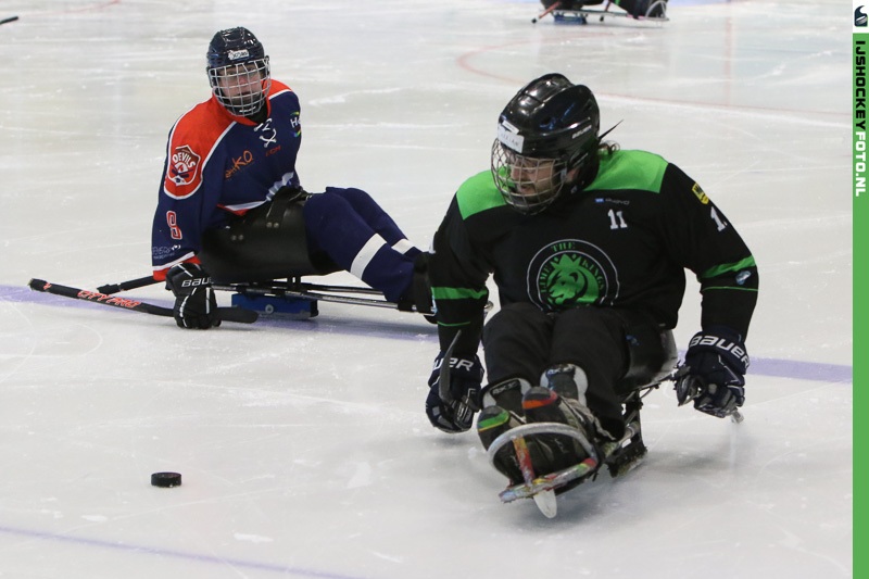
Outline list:
[[[429,265],[441,347],[477,349],[486,281],[502,304],[543,311],[615,306],[676,327],[685,269],[700,280],[704,327],[743,337],[757,301],[755,261],[703,189],[679,167],[643,151],[602,153],[597,176],[536,215],[507,205],[489,172],[465,181],[433,240]]]

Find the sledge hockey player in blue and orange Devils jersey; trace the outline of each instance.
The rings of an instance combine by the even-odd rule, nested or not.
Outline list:
[[[221,30],[206,58],[212,97],[172,127],[152,229],[153,277],[174,292],[178,326],[221,324],[211,276],[345,269],[410,309],[420,251],[365,191],[302,189],[299,98],[272,78],[263,45]]]

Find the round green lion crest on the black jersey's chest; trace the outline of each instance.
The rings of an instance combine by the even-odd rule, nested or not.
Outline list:
[[[550,243],[534,255],[528,268],[528,295],[544,311],[579,304],[612,305],[618,288],[618,273],[609,256],[578,239]]]

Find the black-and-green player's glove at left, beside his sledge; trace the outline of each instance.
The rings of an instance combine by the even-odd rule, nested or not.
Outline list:
[[[444,432],[464,432],[474,424],[474,413],[480,410],[480,391],[483,369],[480,358],[450,358],[450,388],[441,393],[441,366],[443,352],[434,358],[428,379],[426,416],[436,428]]]

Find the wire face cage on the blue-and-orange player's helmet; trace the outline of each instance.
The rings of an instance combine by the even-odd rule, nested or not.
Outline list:
[[[268,56],[238,64],[209,67],[209,84],[217,101],[229,113],[247,116],[265,103],[272,87]]]

